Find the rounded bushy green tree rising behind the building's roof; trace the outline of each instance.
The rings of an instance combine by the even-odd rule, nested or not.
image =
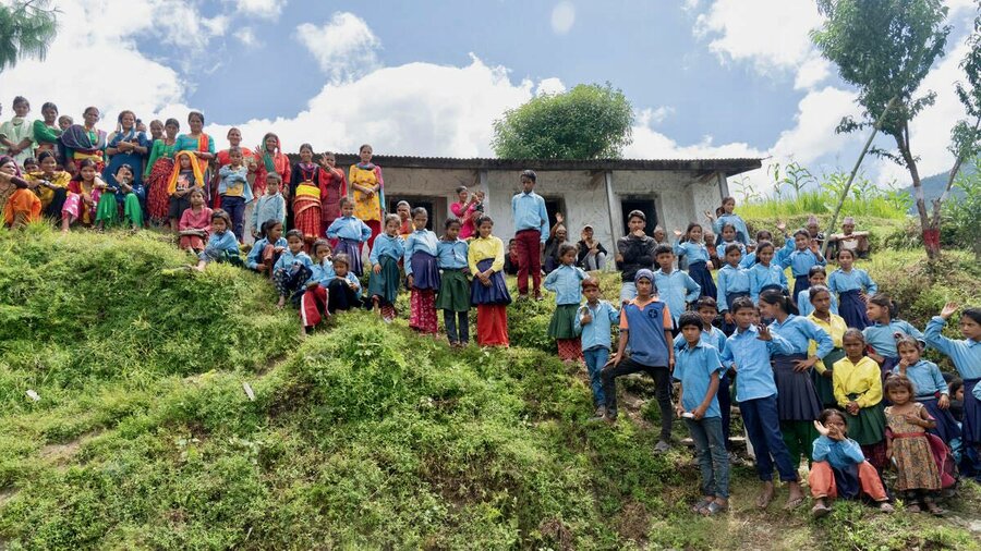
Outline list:
[[[533,98],[494,121],[494,152],[504,159],[619,158],[630,144],[633,108],[609,83],[580,84]]]

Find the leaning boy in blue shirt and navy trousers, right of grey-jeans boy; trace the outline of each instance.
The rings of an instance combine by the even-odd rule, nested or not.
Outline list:
[[[762,325],[754,325],[756,308],[748,298],[732,304],[736,332],[726,340],[723,364],[736,370],[736,399],[742,414],[742,424],[756,456],[756,475],[763,481],[763,491],[756,506],[766,509],[773,501],[773,466],[776,463],[780,480],[787,482],[790,494],[787,507],[796,507],[803,500],[798,482],[797,464],[780,434],[780,417],[777,409],[777,387],[771,359],[774,353],[788,354],[790,343],[772,333]]]

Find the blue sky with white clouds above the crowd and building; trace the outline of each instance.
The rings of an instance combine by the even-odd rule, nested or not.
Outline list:
[[[0,0],[9,2],[10,0]],[[122,109],[148,121],[189,109],[227,146],[276,132],[287,151],[491,157],[493,122],[535,95],[610,83],[635,111],[627,158],[760,157],[814,173],[850,169],[863,140],[836,135],[856,94],[810,42],[810,0],[53,0],[44,61],[0,75],[10,113],[26,96],[104,130]],[[920,173],[949,169],[954,94],[977,7],[948,0],[947,52],[923,88],[936,105],[911,135]],[[889,144],[880,140],[884,146]],[[904,169],[863,164],[882,185]],[[766,191],[765,170],[748,175]],[[740,181],[742,181],[740,179]]]

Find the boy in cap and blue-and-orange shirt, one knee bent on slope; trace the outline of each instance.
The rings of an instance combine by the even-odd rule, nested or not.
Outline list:
[[[656,453],[666,452],[671,444],[671,376],[675,363],[671,343],[670,308],[654,297],[654,273],[642,269],[633,278],[637,298],[620,310],[620,344],[613,365],[603,369],[603,394],[606,396],[606,418],[617,418],[617,377],[644,371],[654,379],[657,403],[661,405],[661,440]],[[626,356],[630,342],[630,357]]]

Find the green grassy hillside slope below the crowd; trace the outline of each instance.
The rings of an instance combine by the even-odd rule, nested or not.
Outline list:
[[[153,234],[32,228],[0,252],[0,549],[981,549],[970,483],[955,518],[814,523],[755,511],[739,466],[732,512],[693,517],[690,452],[651,453],[653,389],[586,423],[548,302],[511,309],[509,350],[363,313],[301,343],[261,278],[173,270]]]

